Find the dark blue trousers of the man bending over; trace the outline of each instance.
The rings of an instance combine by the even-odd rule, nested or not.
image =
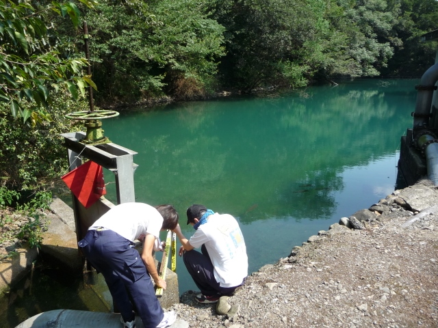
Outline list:
[[[164,313],[142,258],[131,247],[134,244],[112,230],[90,230],[78,245],[94,269],[105,277],[123,320],[133,320],[135,305],[144,327],[157,327]]]

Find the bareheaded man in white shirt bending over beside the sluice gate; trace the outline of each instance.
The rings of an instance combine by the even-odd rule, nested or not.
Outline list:
[[[152,252],[161,246],[157,242],[160,230],[175,229],[178,219],[171,205],[123,203],[97,219],[79,241],[84,256],[105,277],[123,327],[136,327],[134,307],[146,328],[169,327],[175,322],[175,312],[163,312],[151,277],[157,286],[166,289]],[[143,242],[141,256],[133,248],[135,240]]]

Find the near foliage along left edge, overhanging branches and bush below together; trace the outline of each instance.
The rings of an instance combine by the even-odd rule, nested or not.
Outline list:
[[[58,37],[57,23],[64,16],[69,16],[71,26],[77,26],[77,5],[0,0],[2,187],[38,190],[66,172],[59,134],[75,127],[64,114],[83,110],[83,100],[76,100],[78,94],[84,95],[86,86],[94,83],[83,75],[86,59]],[[73,52],[66,51],[68,47]]]

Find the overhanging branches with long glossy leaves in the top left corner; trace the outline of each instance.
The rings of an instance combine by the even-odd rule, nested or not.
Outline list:
[[[94,0],[81,2],[91,6]],[[9,104],[14,118],[32,125],[51,119],[51,91],[66,87],[77,98],[78,89],[84,94],[87,85],[94,85],[82,74],[86,59],[60,56],[53,24],[47,20],[50,12],[79,23],[73,2],[35,7],[30,1],[0,0],[0,100]]]

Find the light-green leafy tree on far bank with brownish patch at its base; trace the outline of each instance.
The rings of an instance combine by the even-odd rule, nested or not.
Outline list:
[[[96,9],[87,20],[101,102],[196,98],[214,83],[224,29],[203,2],[102,1]]]

